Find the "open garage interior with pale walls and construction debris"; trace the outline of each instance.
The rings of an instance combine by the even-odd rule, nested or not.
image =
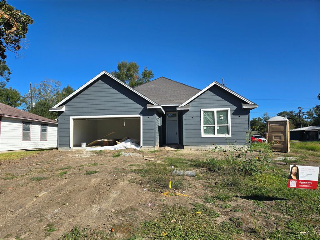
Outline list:
[[[81,147],[85,142],[88,147],[116,145],[124,138],[135,140],[140,145],[140,117],[126,118],[90,118],[73,120],[73,147]],[[111,146],[112,146],[111,145]]]

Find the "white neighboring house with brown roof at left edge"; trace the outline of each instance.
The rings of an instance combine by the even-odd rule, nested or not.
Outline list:
[[[0,103],[0,153],[57,148],[58,123]]]

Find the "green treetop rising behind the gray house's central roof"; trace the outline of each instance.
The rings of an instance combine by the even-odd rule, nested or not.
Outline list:
[[[140,74],[139,65],[136,62],[118,62],[117,69],[112,71],[111,74],[131,87],[148,83],[154,77],[152,70],[148,70],[147,67]]]

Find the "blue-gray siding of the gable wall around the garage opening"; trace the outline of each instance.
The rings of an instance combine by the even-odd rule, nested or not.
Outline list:
[[[70,116],[129,114],[143,115],[143,146],[154,146],[155,111],[147,109],[147,103],[141,96],[103,75],[64,103],[65,112],[59,113],[59,147],[70,147]],[[101,133],[101,137],[103,135]]]

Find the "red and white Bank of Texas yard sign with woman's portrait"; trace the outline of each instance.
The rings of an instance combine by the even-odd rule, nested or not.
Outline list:
[[[288,188],[316,189],[319,167],[290,165]]]

